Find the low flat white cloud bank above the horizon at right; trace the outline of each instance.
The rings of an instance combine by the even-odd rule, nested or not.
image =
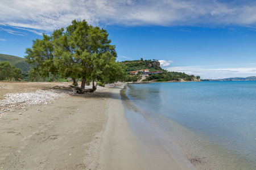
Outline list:
[[[248,64],[249,65],[249,64]],[[231,77],[255,76],[256,65],[251,67],[234,66],[185,66],[168,67],[168,71],[177,71],[189,75],[199,75],[201,79],[221,79]]]

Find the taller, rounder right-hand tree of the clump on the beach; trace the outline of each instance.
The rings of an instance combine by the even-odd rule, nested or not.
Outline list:
[[[60,72],[65,76],[81,78],[82,89],[86,81],[92,80],[94,88],[94,80],[103,79],[103,71],[108,73],[108,67],[114,66],[117,56],[115,46],[110,45],[108,33],[105,29],[88,25],[85,20],[73,20],[66,33],[60,32],[53,33],[60,35],[55,49],[55,63],[61,66]]]

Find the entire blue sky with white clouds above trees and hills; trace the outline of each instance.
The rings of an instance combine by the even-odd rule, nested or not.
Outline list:
[[[0,0],[0,53],[86,20],[106,29],[118,61],[158,59],[201,79],[256,76],[254,0]]]

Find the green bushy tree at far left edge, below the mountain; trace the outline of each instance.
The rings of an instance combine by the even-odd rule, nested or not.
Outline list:
[[[8,61],[0,62],[0,80],[11,80],[14,78],[16,81],[22,78],[22,71],[15,66],[11,66]]]

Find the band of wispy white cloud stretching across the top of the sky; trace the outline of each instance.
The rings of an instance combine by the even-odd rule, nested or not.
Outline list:
[[[75,10],[74,10],[75,9]],[[0,2],[2,24],[53,31],[85,19],[93,25],[242,25],[255,27],[256,3],[220,0],[23,0]]]

